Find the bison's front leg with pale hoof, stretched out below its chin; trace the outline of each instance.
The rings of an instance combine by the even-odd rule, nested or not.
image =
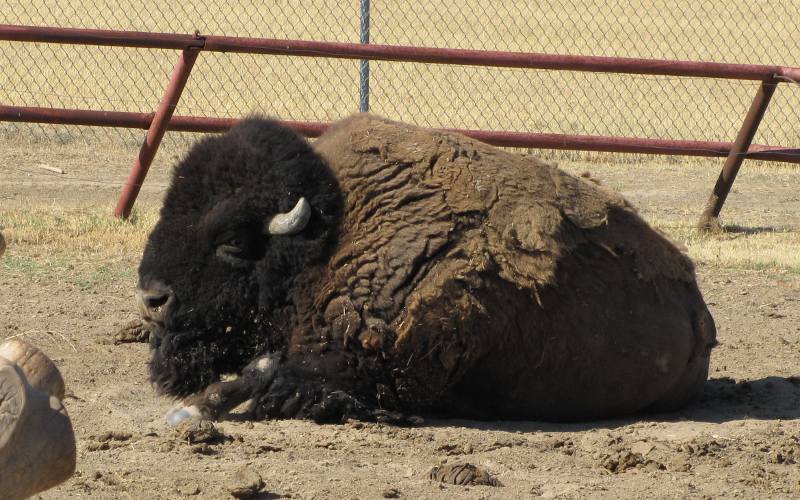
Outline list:
[[[279,353],[257,358],[242,371],[242,376],[229,381],[216,382],[203,392],[184,400],[167,412],[170,425],[184,420],[218,420],[248,399],[266,390],[272,383],[279,364]]]

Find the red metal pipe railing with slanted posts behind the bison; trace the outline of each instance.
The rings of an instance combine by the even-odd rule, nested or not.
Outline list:
[[[180,99],[181,91],[188,80],[194,59],[202,50],[761,81],[762,85],[759,86],[750,111],[745,117],[742,128],[733,143],[455,130],[498,146],[665,155],[726,156],[727,160],[720,178],[703,213],[701,227],[710,227],[716,222],[739,167],[746,157],[800,163],[800,150],[798,149],[751,145],[753,136],[769,105],[775,87],[781,81],[800,80],[800,68],[393,45],[362,45],[268,38],[201,36],[198,33],[182,35],[9,25],[0,25],[0,40],[181,49],[183,51],[178,64],[173,70],[161,104],[154,114],[0,106],[0,119],[2,120],[147,128],[147,138],[142,145],[139,157],[115,210],[115,215],[121,217],[127,217],[130,213],[139,188],[144,182],[147,169],[166,130],[218,132],[226,130],[235,123],[234,120],[227,119],[172,116],[172,112]],[[326,124],[312,122],[288,123],[301,133],[312,137],[319,135],[326,126]]]

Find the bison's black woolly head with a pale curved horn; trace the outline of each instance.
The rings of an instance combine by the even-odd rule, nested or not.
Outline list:
[[[196,144],[139,267],[155,386],[185,396],[285,345],[287,293],[330,253],[341,211],[324,161],[274,121],[250,118]]]

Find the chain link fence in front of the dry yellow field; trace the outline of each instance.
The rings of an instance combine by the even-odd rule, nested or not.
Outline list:
[[[372,0],[370,41],[800,66],[800,0]],[[358,42],[362,0],[0,0],[0,23]],[[177,51],[0,42],[0,102],[151,112]],[[370,109],[431,127],[731,141],[758,82],[370,63]],[[359,62],[202,53],[176,113],[330,121]],[[796,146],[800,86],[756,137]],[[138,144],[142,131],[0,124],[6,140]],[[188,134],[168,134],[167,145]],[[570,154],[570,153],[560,153]]]

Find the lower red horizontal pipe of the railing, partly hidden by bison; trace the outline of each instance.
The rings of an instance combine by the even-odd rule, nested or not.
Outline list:
[[[147,129],[150,127],[152,120],[153,113],[0,106],[0,121]],[[237,121],[237,119],[233,118],[173,116],[167,125],[167,130],[177,132],[224,132]],[[283,123],[306,137],[319,137],[329,125],[321,122],[300,121],[284,121]],[[728,156],[731,149],[730,142],[717,141],[681,141],[490,130],[444,130],[460,133],[487,144],[501,147],[705,157],[725,157]],[[754,144],[750,146],[746,156],[759,160],[800,163],[800,149]]]

